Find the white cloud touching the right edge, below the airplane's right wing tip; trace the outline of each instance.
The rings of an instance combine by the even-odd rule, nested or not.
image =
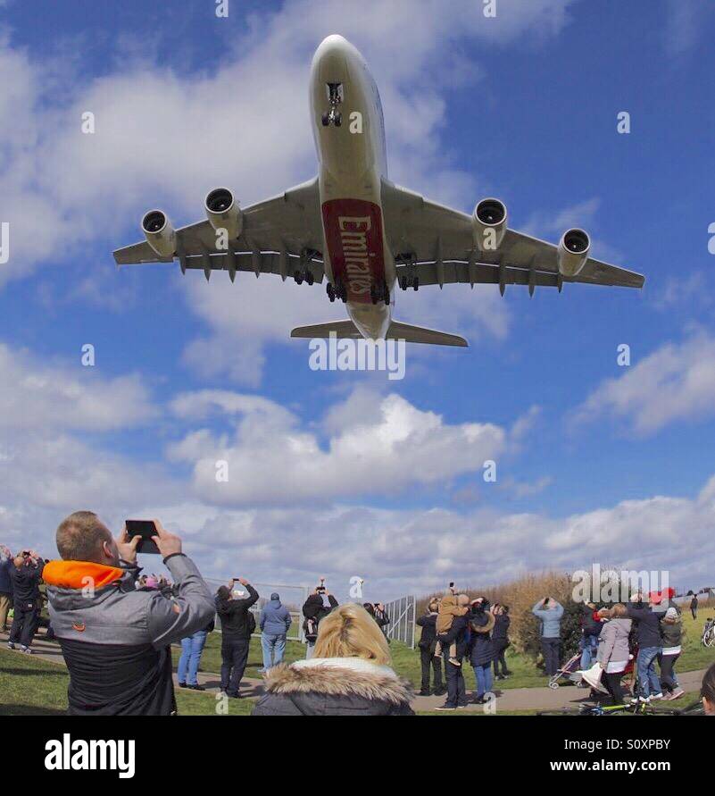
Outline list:
[[[578,406],[577,423],[616,415],[637,434],[650,434],[715,415],[715,339],[709,334],[667,343],[640,360],[635,351],[631,356],[636,364],[603,381]]]

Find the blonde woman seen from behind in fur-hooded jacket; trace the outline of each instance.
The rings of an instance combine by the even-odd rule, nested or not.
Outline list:
[[[347,603],[321,620],[312,658],[266,673],[253,716],[412,716],[412,686],[390,665],[375,620]]]

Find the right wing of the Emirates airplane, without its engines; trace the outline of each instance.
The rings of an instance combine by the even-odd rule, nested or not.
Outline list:
[[[624,288],[644,285],[640,273],[593,257],[577,276],[562,277],[557,247],[515,230],[506,231],[494,252],[476,252],[470,215],[430,202],[387,180],[383,180],[382,204],[401,284],[418,276],[420,287],[454,282],[520,284],[528,285],[531,292],[537,286],[561,289],[563,282]]]

